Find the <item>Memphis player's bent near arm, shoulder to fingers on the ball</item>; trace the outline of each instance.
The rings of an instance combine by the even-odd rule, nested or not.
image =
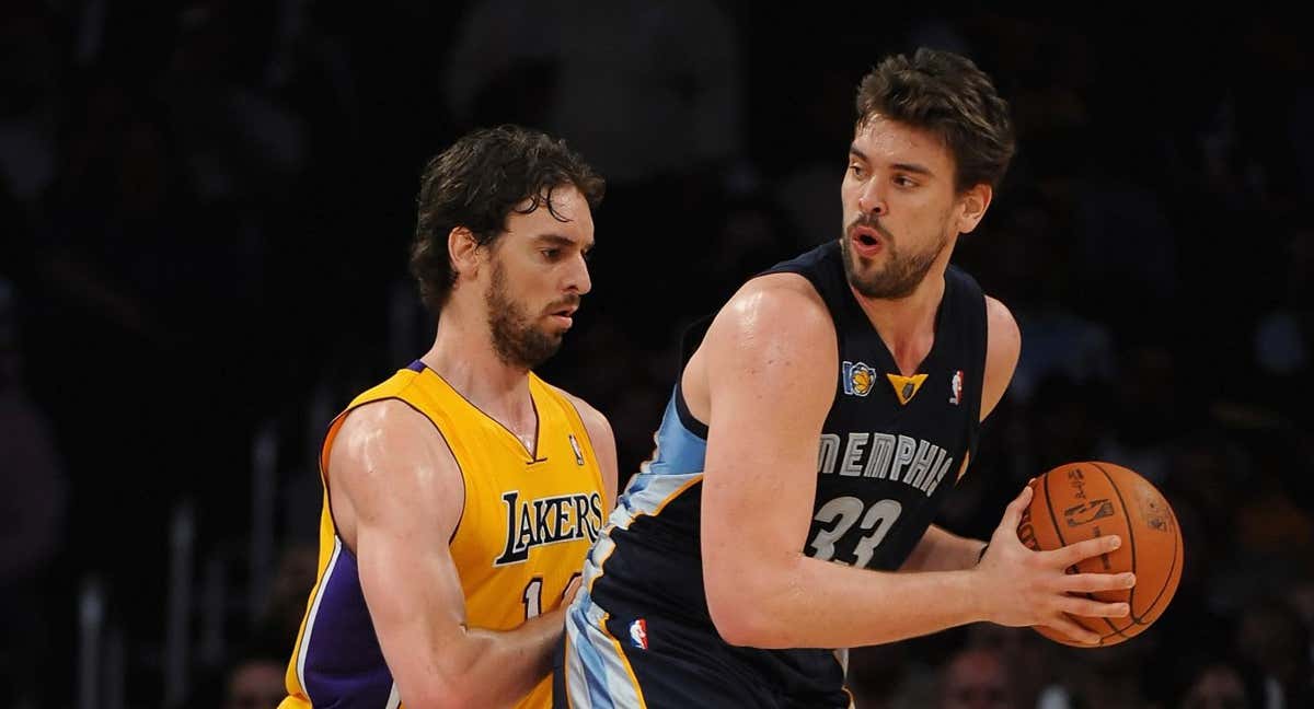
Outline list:
[[[710,402],[704,584],[712,620],[728,642],[850,647],[982,620],[1055,625],[1093,639],[1072,630],[1063,612],[1125,614],[1116,604],[1066,595],[1125,587],[1116,576],[1063,572],[1076,558],[1106,550],[1106,540],[1045,553],[1017,540],[1018,502],[1028,491],[996,532],[996,544],[1007,549],[996,551],[992,544],[995,558],[972,570],[879,572],[803,555],[817,440],[838,361],[825,306],[815,293],[782,282],[756,280],[731,299],[708,331],[694,373]],[[1007,537],[1001,532],[1012,533],[1010,545],[999,541]]]

